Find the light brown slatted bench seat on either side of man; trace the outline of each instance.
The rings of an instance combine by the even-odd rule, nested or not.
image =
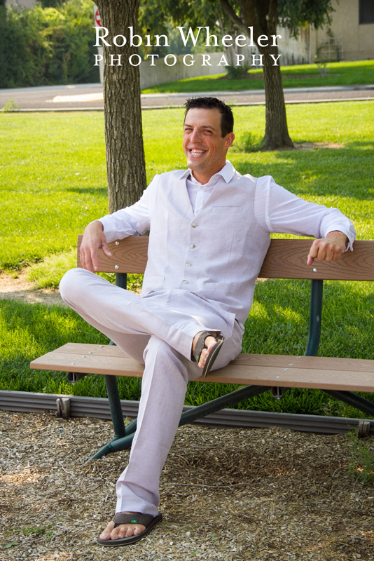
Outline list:
[[[71,351],[74,346],[75,351]],[[94,351],[92,354],[88,354],[88,349],[92,348]],[[81,354],[82,351],[84,351],[83,354]],[[285,359],[293,363],[293,366],[285,366]],[[340,363],[341,368],[330,369],[329,363],[333,364],[333,361],[335,361],[335,367]],[[240,355],[230,365],[220,370],[214,370],[206,378],[199,377],[196,381],[342,391],[374,391],[372,362],[344,358],[300,357],[298,359],[296,356]],[[299,365],[303,365],[303,367],[299,367]],[[140,377],[144,370],[144,365],[127,357],[116,346],[73,343],[33,360],[30,367],[40,370],[134,377]]]

